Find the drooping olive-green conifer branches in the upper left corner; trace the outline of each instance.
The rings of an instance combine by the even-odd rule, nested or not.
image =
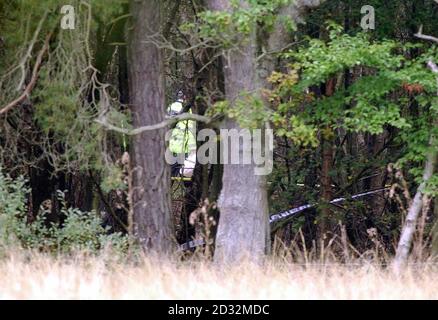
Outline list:
[[[125,0],[2,2],[2,9],[8,14],[7,20],[0,24],[1,49],[4,51],[0,57],[0,105],[14,100],[17,91],[22,90],[17,90],[22,79],[21,68],[12,67],[18,67],[22,61],[23,71],[30,73],[44,39],[49,32],[54,31],[50,54],[44,56],[38,81],[29,100],[35,111],[31,125],[35,133],[33,143],[41,149],[40,157],[46,158],[55,170],[73,172],[95,169],[104,172],[107,164],[113,161],[112,150],[107,150],[108,142],[119,139],[119,146],[123,144],[123,137],[105,133],[93,122],[98,112],[117,109],[120,105],[116,90],[110,84],[100,82],[107,75],[94,69],[100,61],[96,61],[99,56],[93,49],[95,42],[102,40],[99,28],[111,30],[112,23],[123,14],[128,3]],[[75,8],[75,30],[59,28],[62,17],[60,9],[63,5]],[[42,20],[46,11],[47,18]],[[40,23],[41,31],[33,41]],[[29,49],[32,50],[27,55]],[[17,121],[17,127],[28,127],[29,119],[24,121],[21,114],[14,111],[8,116],[16,117],[14,120]],[[118,126],[121,123],[126,121],[115,122]],[[12,131],[10,134],[19,136],[21,132]],[[12,145],[1,146],[2,153],[15,148],[14,140],[11,141]],[[105,154],[108,154],[105,163],[102,160],[104,148]],[[27,162],[17,158],[10,162],[16,162],[17,166]]]

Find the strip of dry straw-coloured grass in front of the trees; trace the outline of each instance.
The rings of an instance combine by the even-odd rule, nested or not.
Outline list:
[[[401,276],[373,264],[137,263],[12,252],[0,257],[0,299],[437,299],[438,268]]]

